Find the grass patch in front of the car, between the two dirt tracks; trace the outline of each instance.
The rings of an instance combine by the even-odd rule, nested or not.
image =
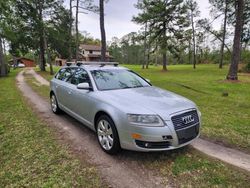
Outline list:
[[[250,174],[186,147],[137,159],[173,187],[249,187]],[[171,186],[171,187],[172,187]]]

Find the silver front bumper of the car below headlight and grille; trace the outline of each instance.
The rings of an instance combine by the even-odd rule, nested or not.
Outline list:
[[[120,132],[121,147],[134,151],[165,151],[186,146],[199,137],[200,123],[178,131],[172,121],[165,121],[165,124],[164,127],[127,125],[128,130]],[[140,138],[132,138],[132,134]]]

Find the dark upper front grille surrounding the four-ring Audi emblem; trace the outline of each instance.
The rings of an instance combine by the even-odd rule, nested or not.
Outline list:
[[[192,116],[192,118],[194,119],[194,121],[188,122],[188,123],[184,123],[184,121],[182,120],[182,118],[186,117],[186,116],[190,116],[190,115]],[[173,116],[171,118],[171,120],[173,122],[173,125],[174,125],[174,128],[175,128],[176,131],[178,131],[180,129],[187,128],[189,126],[192,126],[192,125],[195,125],[195,124],[199,123],[199,117],[198,117],[198,113],[197,113],[196,110],[192,110],[192,111],[189,111],[189,112],[185,112],[185,113]]]

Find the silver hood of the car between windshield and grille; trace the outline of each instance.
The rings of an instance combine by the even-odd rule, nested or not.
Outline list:
[[[104,102],[125,113],[158,114],[164,120],[169,120],[169,115],[172,113],[196,108],[192,101],[153,86],[100,91],[99,94]]]

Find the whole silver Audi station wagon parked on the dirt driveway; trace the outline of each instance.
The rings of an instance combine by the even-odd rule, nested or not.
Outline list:
[[[115,63],[62,67],[50,86],[52,111],[94,130],[109,154],[176,149],[199,136],[201,114],[192,101]]]

